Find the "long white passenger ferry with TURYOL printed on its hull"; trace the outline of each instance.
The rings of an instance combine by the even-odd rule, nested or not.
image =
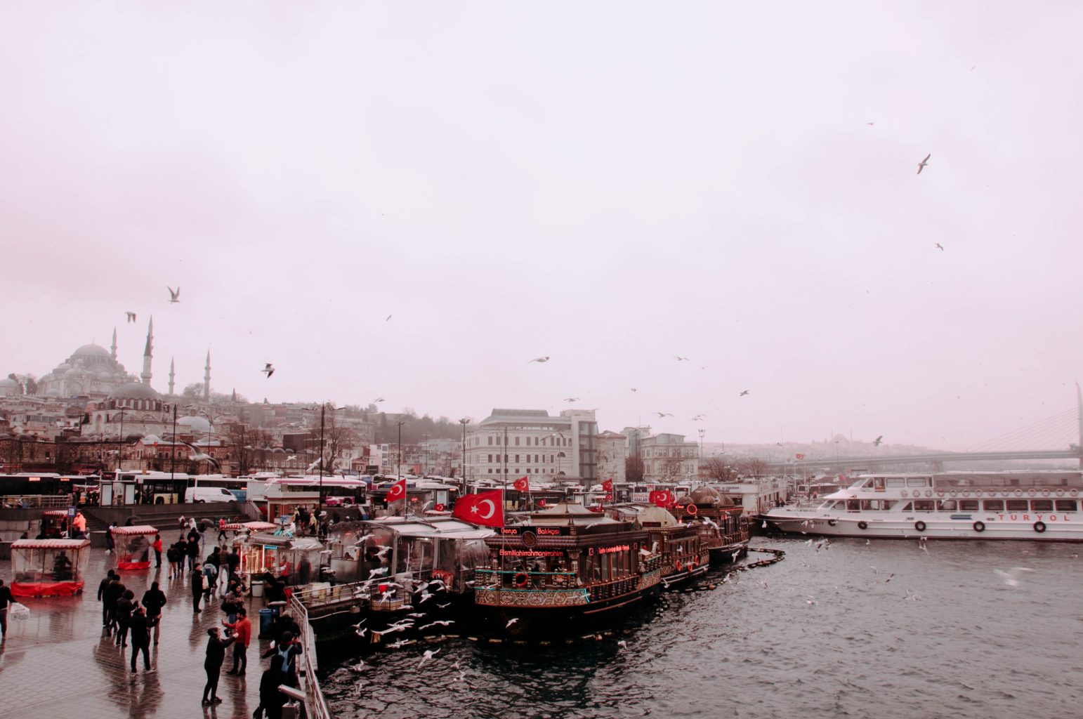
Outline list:
[[[820,501],[760,519],[835,537],[1083,541],[1083,473],[862,474]]]

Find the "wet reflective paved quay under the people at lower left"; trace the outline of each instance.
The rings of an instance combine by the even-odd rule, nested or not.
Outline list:
[[[201,555],[210,553],[208,547]],[[247,677],[226,675],[233,666],[233,648],[226,649],[225,664],[218,684],[222,703],[216,707],[200,704],[207,676],[204,656],[207,629],[221,626],[225,615],[213,600],[209,609],[192,613],[188,575],[170,579],[169,567],[122,572],[125,586],[141,599],[152,581],[166,592],[161,636],[151,646],[151,666],[144,674],[139,657],[138,674],[132,679],[131,644],[114,645],[102,629],[102,604],[96,601],[97,585],[115,555],[104,549],[92,550],[87,586],[78,597],[21,600],[30,609],[26,620],[8,623],[8,637],[0,645],[0,716],[5,719],[116,719],[117,717],[216,717],[247,719],[259,704],[260,675],[264,661],[259,654],[268,648],[257,639],[262,600],[249,600],[252,641],[248,648]],[[11,583],[11,564],[0,564],[0,576]]]

